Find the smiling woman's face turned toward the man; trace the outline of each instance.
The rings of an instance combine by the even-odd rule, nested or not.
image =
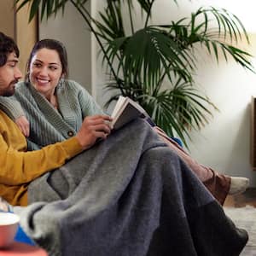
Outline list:
[[[55,49],[38,49],[29,70],[29,79],[36,90],[47,98],[54,94],[62,76],[61,60]]]

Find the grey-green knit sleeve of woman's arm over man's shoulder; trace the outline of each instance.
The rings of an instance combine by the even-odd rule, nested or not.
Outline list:
[[[20,116],[25,115],[23,109],[20,106],[20,102],[15,100],[15,97],[0,96],[0,109],[9,115],[11,119],[15,121]]]

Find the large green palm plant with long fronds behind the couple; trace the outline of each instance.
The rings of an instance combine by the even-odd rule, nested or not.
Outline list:
[[[152,25],[155,0],[106,0],[97,20],[84,7],[87,0],[15,0],[18,10],[30,3],[30,20],[39,10],[41,20],[60,9],[64,12],[67,2],[82,15],[102,50],[108,74],[106,88],[113,90],[106,104],[119,95],[130,96],[169,136],[180,137],[185,145],[190,129],[205,125],[212,115],[209,108],[215,108],[195,86],[195,49],[205,48],[217,61],[219,55],[226,61],[231,57],[253,71],[251,55],[235,46],[243,37],[249,43],[247,32],[236,15],[225,9],[200,8],[189,18]],[[138,28],[135,3],[144,17]],[[124,26],[124,9],[128,10],[129,27]]]

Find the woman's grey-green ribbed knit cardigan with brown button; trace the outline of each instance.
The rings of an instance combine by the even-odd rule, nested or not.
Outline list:
[[[73,80],[61,80],[55,93],[58,111],[31,84],[25,82],[17,84],[15,96],[0,97],[0,108],[12,119],[25,113],[30,122],[29,149],[72,137],[79,131],[84,117],[103,113],[88,91]]]

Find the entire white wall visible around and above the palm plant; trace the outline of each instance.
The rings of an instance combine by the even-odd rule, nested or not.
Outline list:
[[[188,16],[200,6],[215,6],[230,10],[237,15],[252,40],[251,46],[240,45],[243,49],[249,50],[256,55],[256,34],[253,26],[256,25],[253,0],[240,1],[207,1],[201,0],[178,0],[177,7],[174,1],[156,1],[154,6],[154,19],[157,22],[168,22]],[[102,9],[101,0],[94,2],[93,14],[97,9]],[[245,9],[245,6],[247,8]],[[246,11],[245,13],[241,11]],[[239,13],[238,13],[239,12]],[[138,15],[140,10],[138,10]],[[248,19],[251,17],[251,20]],[[218,107],[219,112],[213,112],[214,116],[210,119],[210,124],[206,125],[200,132],[191,132],[192,142],[189,143],[190,154],[204,165],[211,166],[219,172],[227,173],[232,176],[243,176],[250,178],[250,186],[256,186],[256,172],[252,171],[249,163],[250,156],[250,101],[251,96],[256,96],[256,75],[239,67],[234,61],[227,64],[224,59],[220,59],[217,64],[204,52],[201,52],[201,62],[195,80],[201,86],[201,90]],[[96,54],[93,55],[96,70],[93,78],[94,91],[98,101],[102,101],[102,84],[104,75],[99,62],[96,62]],[[255,61],[256,63],[256,61]]]

